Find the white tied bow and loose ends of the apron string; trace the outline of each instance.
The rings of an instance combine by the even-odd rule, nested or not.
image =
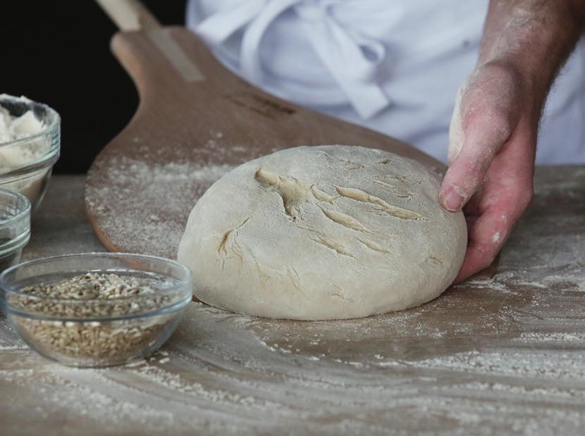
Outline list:
[[[210,15],[195,30],[213,46],[245,27],[240,68],[247,80],[259,84],[262,81],[261,39],[278,15],[293,8],[317,56],[359,116],[367,120],[390,104],[376,82],[386,49],[355,27],[340,25],[332,13],[338,3],[339,0],[245,0],[227,11]]]

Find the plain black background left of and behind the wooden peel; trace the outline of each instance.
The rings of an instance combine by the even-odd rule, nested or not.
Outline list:
[[[185,0],[142,3],[164,25],[185,21]],[[61,115],[56,173],[85,173],[133,116],[133,82],[109,49],[116,31],[92,0],[0,0],[0,94]]]

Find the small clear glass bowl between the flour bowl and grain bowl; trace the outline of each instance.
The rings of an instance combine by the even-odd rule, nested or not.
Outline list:
[[[30,201],[18,192],[0,189],[0,272],[20,261],[30,240]]]

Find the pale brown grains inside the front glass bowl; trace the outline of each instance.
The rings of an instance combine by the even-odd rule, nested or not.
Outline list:
[[[43,354],[74,365],[111,365],[130,361],[152,347],[177,313],[99,318],[131,316],[167,306],[171,298],[157,290],[152,282],[130,275],[87,273],[25,287],[11,294],[8,304],[33,316],[80,318],[61,321],[13,316],[21,335]]]

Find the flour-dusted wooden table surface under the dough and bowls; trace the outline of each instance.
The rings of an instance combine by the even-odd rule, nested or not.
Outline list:
[[[57,176],[25,259],[101,245]],[[469,286],[471,285],[471,286]],[[66,368],[0,318],[1,435],[577,435],[585,432],[585,167],[538,168],[495,276],[338,322],[193,303],[147,361]]]

